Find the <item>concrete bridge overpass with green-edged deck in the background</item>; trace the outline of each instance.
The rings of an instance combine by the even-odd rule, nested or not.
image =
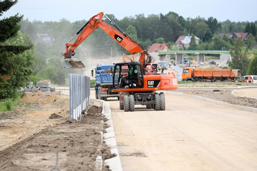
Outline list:
[[[176,64],[180,64],[180,61],[182,61],[182,64],[183,64],[184,54],[196,54],[197,64],[200,64],[200,62],[205,61],[205,54],[219,54],[221,63],[227,60],[231,56],[230,51],[160,51],[157,53],[160,61],[166,61],[168,54],[175,54]]]

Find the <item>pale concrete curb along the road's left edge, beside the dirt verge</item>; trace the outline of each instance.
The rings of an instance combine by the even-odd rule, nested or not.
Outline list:
[[[113,129],[113,120],[111,117],[110,103],[99,99],[94,99],[94,100],[103,102],[102,113],[108,119],[106,123],[109,127],[105,129],[106,133],[103,133],[103,141],[105,141],[106,145],[108,145],[108,147],[111,148],[110,150],[112,154],[114,153],[117,154],[116,157],[106,159],[104,162],[104,165],[109,165],[109,169],[111,169],[112,171],[122,171],[122,165],[121,165],[119,151],[117,148],[117,143],[116,143],[114,129]]]

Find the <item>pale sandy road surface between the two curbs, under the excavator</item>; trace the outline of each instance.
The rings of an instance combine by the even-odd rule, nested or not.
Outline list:
[[[108,98],[123,171],[257,170],[257,117],[191,97],[165,95],[166,110],[119,110]]]

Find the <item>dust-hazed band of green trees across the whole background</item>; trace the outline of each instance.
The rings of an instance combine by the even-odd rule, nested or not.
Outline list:
[[[0,15],[17,3],[17,0],[5,0],[0,2],[0,5],[1,3],[5,3],[5,5],[0,9]],[[185,19],[174,12],[151,14],[147,17],[144,14],[138,14],[124,17],[121,20],[116,19],[114,14],[106,14],[106,16],[147,50],[153,43],[167,43],[171,50],[178,50],[174,42],[179,36],[191,35],[192,38],[197,36],[200,39],[199,44],[196,45],[195,41],[191,40],[190,47],[184,50],[232,49],[232,61],[230,61],[229,67],[240,69],[243,75],[246,73],[257,75],[257,21],[233,22],[226,20],[219,22],[213,17],[205,19],[200,16]],[[63,68],[64,59],[61,53],[65,52],[65,44],[84,26],[88,19],[72,23],[65,18],[59,22],[38,20],[31,22],[22,17],[17,14],[0,21],[0,51],[4,52],[0,64],[0,99],[14,97],[14,90],[25,87],[28,81],[33,81],[35,84],[40,79],[50,79],[53,84],[63,85],[66,83],[68,73],[81,73],[81,70]],[[104,20],[110,24],[109,20],[105,18]],[[248,40],[233,41],[225,35],[218,36],[218,33],[227,32],[247,32],[249,33]],[[51,44],[36,42],[37,33],[48,34]],[[71,43],[73,42],[74,40]],[[20,50],[13,51],[13,49],[17,49],[15,47],[20,47]],[[111,56],[127,54],[122,46],[100,28],[96,29],[76,48],[75,52],[75,58],[86,65],[90,63],[90,59],[109,59]],[[13,90],[13,95],[10,95],[10,89]]]

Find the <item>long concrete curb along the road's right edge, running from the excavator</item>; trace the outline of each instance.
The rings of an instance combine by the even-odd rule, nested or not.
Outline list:
[[[158,91],[160,92],[160,91]],[[181,95],[181,96],[187,96],[187,97],[193,97],[193,98],[197,98],[197,99],[201,99],[201,100],[205,100],[205,101],[209,101],[212,103],[217,103],[217,104],[221,104],[224,106],[228,106],[228,107],[234,107],[237,109],[242,109],[242,110],[248,110],[248,111],[252,111],[252,112],[257,112],[257,108],[254,107],[246,107],[246,106],[239,106],[239,105],[235,105],[235,104],[229,104],[229,103],[225,103],[223,101],[217,101],[217,100],[213,100],[213,99],[209,99],[209,98],[205,98],[205,97],[201,97],[201,96],[197,96],[197,95],[188,95],[188,94],[183,94],[181,92],[167,92],[167,91],[162,91],[164,94],[170,94],[170,95]]]

